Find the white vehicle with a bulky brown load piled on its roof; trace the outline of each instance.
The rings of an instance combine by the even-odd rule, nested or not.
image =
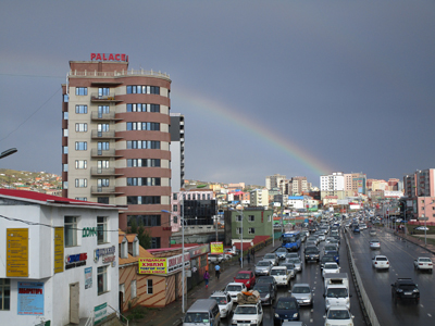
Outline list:
[[[263,322],[263,308],[261,306],[258,291],[241,292],[237,296],[238,305],[233,313],[231,325],[261,325]],[[249,321],[249,322],[247,322]]]

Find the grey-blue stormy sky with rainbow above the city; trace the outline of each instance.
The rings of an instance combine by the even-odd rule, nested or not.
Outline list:
[[[0,168],[61,174],[61,85],[92,52],[170,74],[188,179],[435,167],[434,1],[2,0],[0,28]]]

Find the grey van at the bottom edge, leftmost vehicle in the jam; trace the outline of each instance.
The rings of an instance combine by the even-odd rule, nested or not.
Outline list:
[[[187,311],[183,318],[183,326],[219,326],[221,312],[217,302],[213,299],[199,299]]]

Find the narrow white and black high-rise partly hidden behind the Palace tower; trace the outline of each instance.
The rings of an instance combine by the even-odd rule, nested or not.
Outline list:
[[[171,113],[171,188],[178,192],[184,186],[184,115]]]

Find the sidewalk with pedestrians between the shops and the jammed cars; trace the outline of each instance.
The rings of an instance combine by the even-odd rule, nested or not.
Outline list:
[[[228,283],[233,281],[233,277],[236,276],[238,271],[240,269],[252,271],[254,267],[254,262],[258,262],[264,256],[264,254],[272,252],[279,247],[281,247],[281,241],[275,240],[275,246],[272,246],[271,243],[268,247],[264,247],[263,249],[256,252],[254,260],[252,260],[251,258],[249,264],[246,258],[244,256],[244,268],[240,267],[240,264],[237,260],[220,264],[222,273],[219,280],[214,275],[214,264],[209,264],[209,271],[211,275],[209,288],[206,289],[204,283],[201,283],[200,285],[188,291],[185,304],[186,311],[197,299],[204,299],[211,296],[214,291],[223,290]],[[182,299],[179,298],[178,301],[174,301],[169,305],[166,305],[165,308],[153,310],[151,313],[147,315],[145,322],[129,322],[128,325],[129,326],[170,326],[170,325],[177,326],[182,324],[183,316],[184,314],[182,313]]]

